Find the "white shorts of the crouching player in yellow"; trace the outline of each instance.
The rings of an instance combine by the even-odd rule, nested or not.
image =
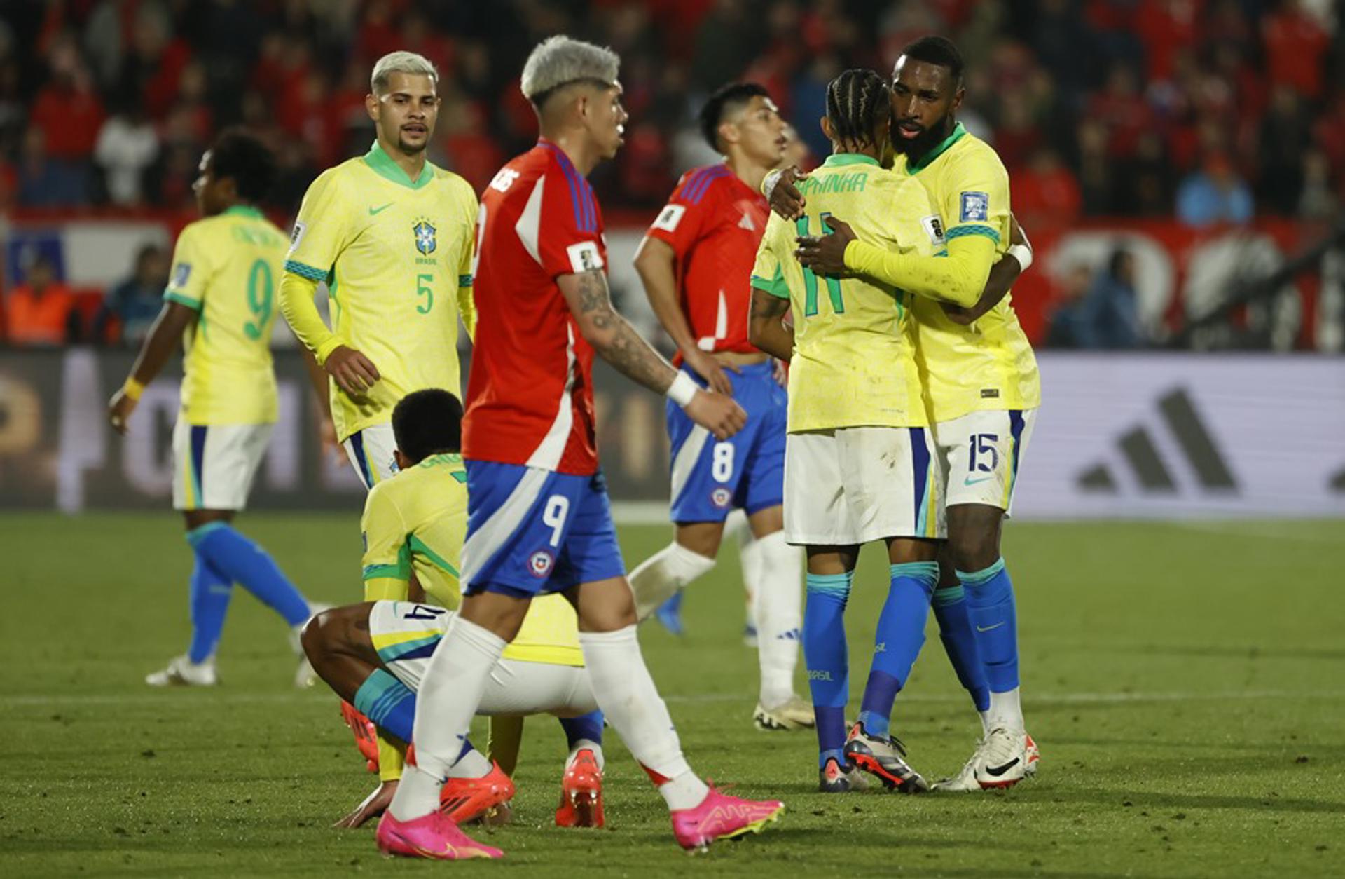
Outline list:
[[[434,647],[448,631],[453,611],[412,602],[374,602],[369,637],[383,668],[418,692]],[[578,717],[597,711],[588,672],[578,665],[500,660],[491,669],[479,715]]]

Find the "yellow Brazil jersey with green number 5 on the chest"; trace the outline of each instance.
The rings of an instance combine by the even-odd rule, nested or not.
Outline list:
[[[331,382],[338,437],[386,424],[413,390],[461,396],[457,319],[473,330],[476,210],[467,180],[428,162],[412,180],[378,144],[308,187],[285,271],[327,281],[335,335],[315,353],[347,345],[382,376],[360,397]]]

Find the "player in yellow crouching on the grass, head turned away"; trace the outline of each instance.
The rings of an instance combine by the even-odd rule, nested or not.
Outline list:
[[[378,483],[364,501],[363,576],[374,603],[321,614],[304,631],[304,647],[319,674],[343,699],[401,743],[410,742],[420,685],[434,646],[459,604],[459,571],[467,529],[467,470],[461,448],[463,404],[443,389],[416,390],[393,409],[399,472]],[[424,588],[412,590],[412,573]],[[421,600],[426,603],[421,603]],[[562,596],[539,599],[523,619],[491,677],[484,715],[554,713],[570,744],[555,821],[562,827],[601,825],[603,716],[584,673],[578,618]],[[494,719],[494,717],[492,717]],[[457,821],[507,801],[514,785],[506,771],[516,759],[516,739],[490,761],[464,747],[445,785],[443,802]],[[401,777],[397,744],[381,740],[382,783],[342,825],[359,827],[379,814]]]

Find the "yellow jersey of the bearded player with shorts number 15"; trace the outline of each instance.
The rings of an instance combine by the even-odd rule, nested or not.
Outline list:
[[[959,122],[920,166],[897,157],[896,171],[924,184],[944,236],[986,236],[1002,254],[1009,246],[1009,174],[999,156]],[[933,299],[917,296],[916,361],[935,421],[981,409],[1033,409],[1041,382],[1032,345],[1018,324],[1013,295],[971,326],[948,320]]]

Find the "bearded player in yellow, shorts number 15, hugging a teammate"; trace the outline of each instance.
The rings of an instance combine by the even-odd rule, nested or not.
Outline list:
[[[892,82],[892,140],[901,153],[896,167],[929,190],[943,218],[947,258],[894,253],[834,223],[835,236],[800,248],[806,262],[964,307],[976,303],[993,267],[1009,273],[1026,268],[1030,250],[1009,241],[1009,175],[994,149],[956,121],[962,69],[958,48],[929,36],[902,51]],[[987,295],[970,312],[917,299],[915,314],[921,380],[948,485],[946,568],[956,569],[956,580],[946,579],[935,596],[936,614],[943,625],[966,612],[963,634],[948,619],[944,639],[970,635],[964,646],[974,641],[989,688],[976,695],[974,665],[959,665],[950,649],[982,711],[985,738],[944,786],[1007,787],[1033,771],[1038,757],[1020,707],[1017,614],[999,555],[1001,524],[1041,404],[1037,362],[1009,296]]]

